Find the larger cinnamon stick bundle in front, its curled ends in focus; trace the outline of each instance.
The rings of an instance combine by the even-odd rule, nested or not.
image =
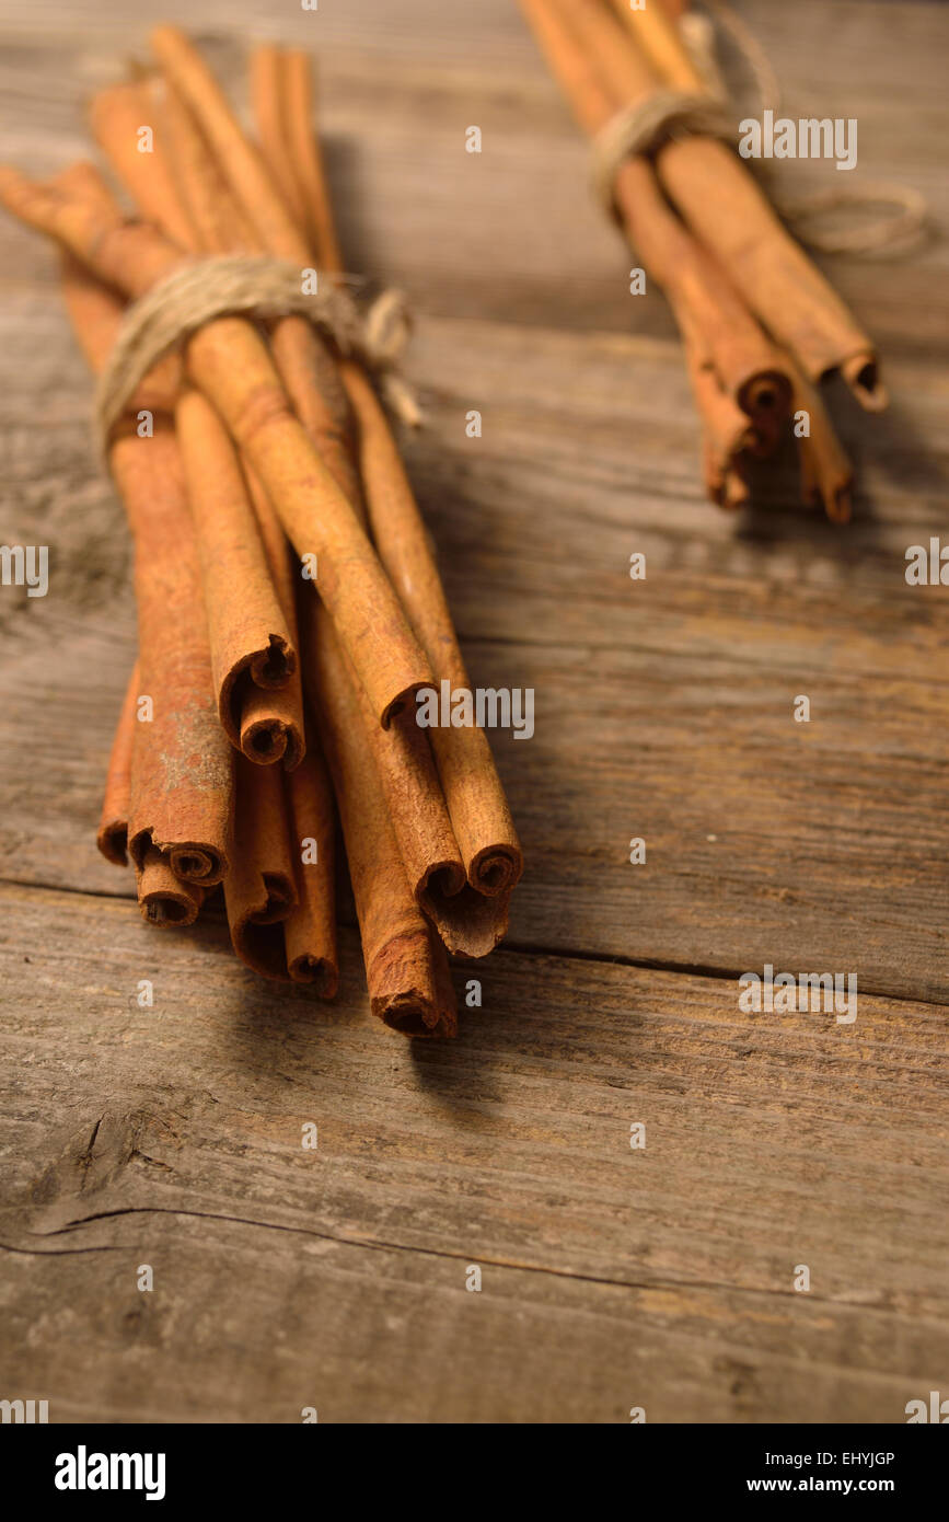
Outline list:
[[[138,662],[99,848],[131,858],[151,924],[192,924],[222,890],[248,966],[330,998],[336,804],[371,1009],[452,1035],[447,951],[503,936],[522,852],[484,731],[415,721],[421,689],[468,688],[426,528],[345,324],[227,306],[245,268],[295,269],[324,301],[342,289],[309,59],[254,53],[254,142],[181,32],[151,41],[154,61],[90,108],[132,218],[88,163],[44,184],[0,170],[8,210],[61,247],[70,320],[116,403]],[[186,288],[211,315],[117,402],[117,356]]]

